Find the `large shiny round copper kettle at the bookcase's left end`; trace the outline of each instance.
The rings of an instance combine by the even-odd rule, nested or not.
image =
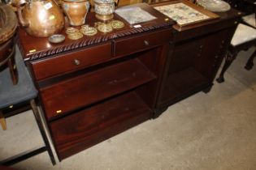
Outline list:
[[[29,35],[47,37],[63,29],[63,12],[54,0],[20,0],[18,5],[20,24]]]

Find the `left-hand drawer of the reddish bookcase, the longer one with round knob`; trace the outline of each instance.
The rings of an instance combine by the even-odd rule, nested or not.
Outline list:
[[[111,58],[111,43],[97,45],[43,61],[33,62],[33,71],[37,80],[46,79],[57,74],[79,70],[85,66],[104,62]]]

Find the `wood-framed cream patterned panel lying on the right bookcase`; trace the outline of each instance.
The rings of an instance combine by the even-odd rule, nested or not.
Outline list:
[[[177,24],[174,28],[178,31],[193,28],[197,23],[219,18],[219,15],[186,0],[157,3],[154,4],[154,9],[176,20]]]

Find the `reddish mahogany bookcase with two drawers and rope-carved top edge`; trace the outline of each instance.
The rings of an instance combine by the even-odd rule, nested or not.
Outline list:
[[[124,21],[122,29],[60,45],[20,29],[20,49],[59,160],[153,117],[174,22],[149,5],[138,6],[158,20],[141,28]],[[87,20],[92,25],[94,14]]]

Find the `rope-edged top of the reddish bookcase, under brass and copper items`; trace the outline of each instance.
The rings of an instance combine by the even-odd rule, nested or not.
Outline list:
[[[38,38],[29,36],[24,29],[20,28],[18,35],[18,45],[20,46],[20,51],[24,56],[24,60],[36,60],[42,57],[49,57],[51,55],[65,53],[74,49],[80,49],[89,45],[97,45],[109,40],[114,40],[119,37],[128,37],[135,34],[143,32],[152,32],[161,28],[170,28],[175,22],[171,19],[167,19],[165,15],[162,15],[158,11],[155,11],[151,6],[145,3],[136,4],[135,6],[141,7],[141,9],[154,15],[157,19],[153,19],[149,22],[139,23],[140,28],[134,28],[133,25],[129,25],[124,19],[120,18],[119,15],[114,14],[114,19],[118,19],[124,22],[124,28],[115,29],[110,33],[98,32],[95,36],[83,36],[80,40],[69,40],[65,30],[69,26],[65,26],[61,34],[66,36],[66,40],[60,44],[50,44],[47,38]],[[94,12],[89,12],[86,16],[85,24],[93,26],[95,22],[98,22],[95,18]],[[77,27],[80,29],[80,27]]]

